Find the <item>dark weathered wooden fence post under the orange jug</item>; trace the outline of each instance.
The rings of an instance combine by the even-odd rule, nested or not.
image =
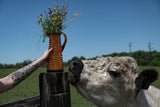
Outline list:
[[[47,72],[39,76],[41,107],[71,107],[67,73]]]

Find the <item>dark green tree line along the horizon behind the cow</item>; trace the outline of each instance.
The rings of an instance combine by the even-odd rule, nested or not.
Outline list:
[[[158,51],[145,52],[145,51],[139,50],[139,51],[135,51],[132,53],[114,52],[112,54],[102,55],[102,57],[107,57],[107,56],[112,56],[112,57],[131,56],[137,61],[139,66],[160,66],[160,52]],[[88,58],[88,59],[96,59],[96,57]],[[86,60],[86,58],[84,56],[81,56],[81,57],[74,56],[68,61],[63,62],[63,65],[68,66],[73,60]],[[25,60],[23,62],[16,63],[16,64],[1,64],[0,63],[0,68],[14,68],[14,67],[21,68],[25,65],[30,64],[31,62],[32,62],[31,60]],[[44,67],[46,66],[47,64],[44,65]]]

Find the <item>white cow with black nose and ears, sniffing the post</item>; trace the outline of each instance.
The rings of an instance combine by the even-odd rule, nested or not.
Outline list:
[[[98,107],[160,107],[160,90],[152,85],[154,69],[137,73],[132,57],[101,57],[72,61],[68,80]]]

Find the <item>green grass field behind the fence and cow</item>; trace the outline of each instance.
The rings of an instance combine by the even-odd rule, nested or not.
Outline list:
[[[157,71],[159,71],[158,73],[160,75],[160,67],[140,67],[139,72],[147,68],[156,69]],[[17,68],[0,69],[0,78],[5,77],[6,75],[16,70]],[[65,71],[67,71],[67,68],[65,68]],[[18,86],[5,93],[0,94],[0,104],[39,95],[39,74],[42,72],[46,72],[46,68],[39,68],[27,79],[21,82]],[[160,76],[158,80],[153,83],[153,85],[160,88]],[[96,107],[95,105],[87,101],[85,98],[80,96],[73,86],[70,86],[70,90],[72,107]]]

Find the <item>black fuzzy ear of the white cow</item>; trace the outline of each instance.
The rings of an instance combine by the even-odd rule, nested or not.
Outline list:
[[[157,80],[158,73],[154,69],[147,69],[140,73],[140,75],[136,78],[135,84],[137,88],[137,94],[141,89],[148,89],[149,85]]]

